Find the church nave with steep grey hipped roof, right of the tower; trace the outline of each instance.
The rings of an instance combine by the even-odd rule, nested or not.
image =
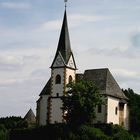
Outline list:
[[[92,81],[103,95],[104,105],[96,107],[94,123],[119,124],[129,129],[128,99],[108,68],[86,70],[84,74],[77,74],[76,77],[77,81]]]

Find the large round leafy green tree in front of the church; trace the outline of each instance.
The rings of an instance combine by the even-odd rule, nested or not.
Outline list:
[[[62,110],[67,124],[78,126],[92,123],[96,117],[96,106],[103,103],[99,89],[87,81],[69,83],[67,88],[67,95],[62,97]]]

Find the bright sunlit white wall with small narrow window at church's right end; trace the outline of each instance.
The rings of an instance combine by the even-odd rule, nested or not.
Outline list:
[[[107,123],[119,124],[119,100],[113,97],[108,97],[107,103]],[[117,114],[116,114],[117,108]]]

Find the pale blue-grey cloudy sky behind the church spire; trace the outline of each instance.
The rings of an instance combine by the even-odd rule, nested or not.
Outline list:
[[[140,93],[140,0],[69,0],[78,72],[109,68],[121,88]],[[50,78],[63,0],[0,0],[0,117],[35,113]]]

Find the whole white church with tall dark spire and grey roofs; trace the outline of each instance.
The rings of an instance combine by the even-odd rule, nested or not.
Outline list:
[[[127,97],[122,92],[108,68],[87,69],[84,73],[76,73],[76,61],[71,49],[67,12],[64,18],[59,42],[51,65],[51,76],[37,100],[37,124],[63,123],[61,97],[66,95],[66,85],[79,80],[92,81],[103,95],[104,105],[96,107],[94,123],[119,124],[129,129],[129,109]]]

